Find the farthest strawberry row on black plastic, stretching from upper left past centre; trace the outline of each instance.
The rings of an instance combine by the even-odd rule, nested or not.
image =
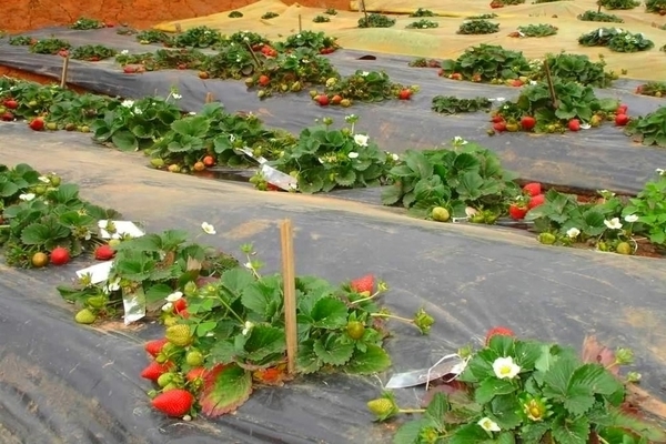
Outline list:
[[[153,36],[155,31],[151,32],[150,36]],[[154,39],[142,42],[150,43]],[[65,40],[37,40],[30,36],[14,37],[10,39],[10,44],[28,46],[36,53],[71,56],[92,62],[115,56],[115,61],[129,74],[179,69],[198,70],[203,80],[244,79],[249,90],[258,90],[260,99],[321,85],[322,91],[313,89],[312,93],[317,104],[350,107],[355,101],[408,100],[418,90],[415,85],[392,82],[384,72],[359,70],[353,75],[341,75],[330,60],[321,56],[337,48],[335,40],[323,32],[302,31],[289,36],[284,42],[271,42],[254,32],[241,31],[224,37],[202,27],[181,33],[178,39],[180,43],[175,46],[180,49],[144,53],[130,53],[127,50],[118,53],[99,44],[72,49]],[[209,47],[215,52],[204,53],[196,49]]]

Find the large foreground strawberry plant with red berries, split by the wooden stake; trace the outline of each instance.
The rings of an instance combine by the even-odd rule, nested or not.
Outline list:
[[[317,372],[384,371],[391,365],[386,320],[407,322],[423,334],[434,322],[423,310],[404,319],[380,307],[387,286],[375,285],[373,276],[342,285],[299,276],[299,354],[295,373],[287,374],[282,276],[260,274],[263,264],[252,245],[242,251],[245,266],[206,283],[183,282],[182,291],[167,297],[164,339],[147,343],[151,362],[142,372],[154,382],[153,406],[167,415],[228,414],[259,386]]]

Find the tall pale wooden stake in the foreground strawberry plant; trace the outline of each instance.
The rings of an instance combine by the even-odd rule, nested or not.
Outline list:
[[[291,220],[280,225],[282,241],[282,279],[284,281],[284,332],[286,334],[286,371],[296,371],[299,334],[296,330],[296,276],[294,271],[294,233]]]

